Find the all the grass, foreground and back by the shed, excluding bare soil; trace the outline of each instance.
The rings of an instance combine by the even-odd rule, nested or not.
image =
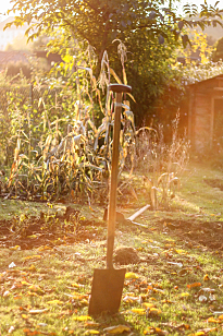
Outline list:
[[[185,236],[195,232],[195,227],[202,230],[202,225],[223,219],[222,192],[208,185],[205,176],[223,180],[219,171],[190,166],[172,211],[144,213],[137,221],[147,225],[146,229],[126,224],[116,227],[115,247],[135,248],[140,257],[140,263],[125,265],[133,275],[125,279],[116,315],[78,321],[90,319],[86,316],[92,274],[94,268],[106,267],[104,241],[65,245],[54,240],[33,250],[20,250],[15,242],[14,248],[0,248],[1,335],[109,335],[106,328],[116,325],[128,328],[123,335],[223,335],[223,320],[218,316],[223,312],[223,252],[203,244],[194,233]],[[8,200],[0,204],[1,218],[26,209],[36,215],[64,207]],[[92,208],[80,208],[82,216],[100,219],[103,209]],[[123,208],[125,217],[134,212],[131,205]],[[181,230],[172,230],[170,224],[181,224]],[[103,236],[106,228],[100,230]],[[211,230],[203,232],[200,236],[206,241]],[[11,263],[15,266],[10,267]],[[191,284],[199,285],[187,286]],[[153,303],[157,310],[141,311],[145,303]]]

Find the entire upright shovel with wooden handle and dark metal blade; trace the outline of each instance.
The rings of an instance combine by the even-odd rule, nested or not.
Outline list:
[[[115,269],[113,267],[113,248],[116,217],[116,189],[120,156],[120,129],[122,112],[122,93],[131,93],[132,87],[122,84],[111,84],[109,89],[116,94],[113,151],[111,166],[111,183],[108,217],[108,238],[107,238],[107,268],[94,271],[91,296],[89,301],[88,314],[98,315],[102,312],[114,314],[120,309],[122,290],[125,279],[125,268]]]

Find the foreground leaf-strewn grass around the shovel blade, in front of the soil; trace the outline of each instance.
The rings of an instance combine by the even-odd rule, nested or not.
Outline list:
[[[169,331],[182,325],[182,328],[190,327],[185,332],[189,335],[212,326],[207,320],[214,315],[212,311],[222,310],[223,302],[222,253],[207,253],[196,247],[187,249],[177,239],[170,240],[156,231],[145,235],[139,230],[124,232],[123,227],[120,230],[122,236],[117,236],[116,244],[125,242],[134,247],[143,260],[137,265],[126,266],[127,272],[138,278],[126,279],[123,290],[123,298],[137,297],[138,301],[122,302],[120,315],[100,316],[94,329],[106,335],[106,327],[124,324],[134,335],[144,335],[148,326]],[[1,250],[2,335],[7,335],[11,326],[15,328],[13,335],[24,335],[24,331],[27,335],[34,332],[84,335],[89,326],[75,317],[87,315],[92,271],[106,266],[103,254],[103,248],[97,243],[61,245],[45,251]],[[9,268],[12,262],[16,266]],[[209,279],[205,280],[207,274]],[[188,289],[187,285],[194,283],[201,286]],[[214,290],[215,301],[201,303],[201,288]],[[141,309],[144,302],[154,303],[160,314],[146,316],[132,311]],[[33,310],[40,312],[32,314]],[[220,331],[221,324],[218,324],[218,332],[211,335],[221,335]],[[179,331],[172,329],[171,335],[179,335]]]

